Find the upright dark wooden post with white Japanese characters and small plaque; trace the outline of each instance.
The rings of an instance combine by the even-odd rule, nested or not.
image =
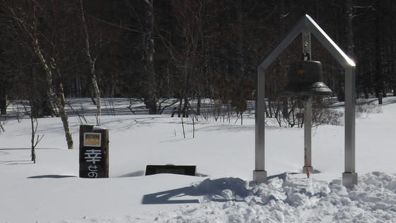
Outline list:
[[[80,178],[109,177],[109,130],[80,125]]]

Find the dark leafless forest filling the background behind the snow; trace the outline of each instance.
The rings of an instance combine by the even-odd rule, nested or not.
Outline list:
[[[139,98],[150,114],[175,98],[184,116],[211,98],[242,114],[257,64],[305,14],[356,61],[358,97],[395,95],[395,11],[391,0],[0,0],[1,113],[25,100],[33,117],[67,124],[67,98],[92,98],[100,115],[106,97]],[[267,70],[270,117],[301,50],[296,39]],[[315,38],[312,59],[343,101],[343,69]]]

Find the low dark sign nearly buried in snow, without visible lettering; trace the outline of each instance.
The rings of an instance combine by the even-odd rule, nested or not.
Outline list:
[[[174,166],[174,165],[147,165],[146,175],[158,173],[173,173],[195,176],[197,166]]]

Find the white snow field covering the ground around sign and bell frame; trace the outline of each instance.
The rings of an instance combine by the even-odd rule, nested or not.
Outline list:
[[[38,120],[37,163],[30,161],[30,120],[6,121],[0,135],[0,222],[396,222],[396,97],[375,99],[356,118],[359,185],[344,188],[344,126],[313,128],[313,168],[303,167],[303,129],[266,127],[268,182],[252,183],[255,120],[195,122],[144,115],[136,103],[103,108],[110,132],[110,178],[78,178],[60,118]],[[95,125],[89,98],[72,100]],[[82,109],[83,108],[83,109]],[[107,106],[110,108],[110,105]],[[342,110],[341,108],[338,108]],[[8,107],[12,115],[15,107]],[[197,176],[144,176],[148,164],[196,165]]]

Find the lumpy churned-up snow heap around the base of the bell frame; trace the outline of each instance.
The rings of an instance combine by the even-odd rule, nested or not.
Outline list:
[[[196,190],[202,203],[187,205],[157,220],[164,222],[393,222],[396,175],[367,173],[347,189],[287,173],[268,183],[238,178],[206,179]]]

